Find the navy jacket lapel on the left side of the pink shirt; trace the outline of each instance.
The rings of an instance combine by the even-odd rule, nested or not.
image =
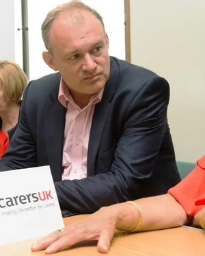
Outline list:
[[[46,152],[54,181],[61,181],[62,152],[66,108],[59,102],[59,84],[51,92],[50,102],[44,106],[44,135]]]

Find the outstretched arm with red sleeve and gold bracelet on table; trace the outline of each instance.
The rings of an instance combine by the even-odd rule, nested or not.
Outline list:
[[[88,218],[44,237],[31,249],[46,248],[49,254],[83,240],[98,240],[98,251],[107,253],[115,229],[132,233],[183,224],[205,229],[205,156],[167,194],[102,207]]]

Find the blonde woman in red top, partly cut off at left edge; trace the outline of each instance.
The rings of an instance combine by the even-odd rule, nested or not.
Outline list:
[[[26,85],[27,76],[15,62],[0,60],[0,158],[8,148],[10,130],[18,122]]]

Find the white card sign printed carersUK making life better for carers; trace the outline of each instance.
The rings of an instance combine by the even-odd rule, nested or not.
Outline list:
[[[0,246],[62,228],[49,166],[0,172]]]

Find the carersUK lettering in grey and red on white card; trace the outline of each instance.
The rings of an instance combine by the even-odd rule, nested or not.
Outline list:
[[[25,205],[31,202],[46,201],[49,199],[53,199],[53,196],[51,195],[51,190],[20,196],[0,198],[0,208],[13,207],[16,205]]]

